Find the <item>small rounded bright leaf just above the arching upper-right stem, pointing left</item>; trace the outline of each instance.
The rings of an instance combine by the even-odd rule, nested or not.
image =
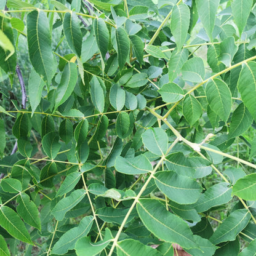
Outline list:
[[[182,88],[180,88],[180,86],[174,82],[164,84],[164,86],[162,86],[158,92],[161,94],[162,100],[166,103],[175,103],[184,97]]]

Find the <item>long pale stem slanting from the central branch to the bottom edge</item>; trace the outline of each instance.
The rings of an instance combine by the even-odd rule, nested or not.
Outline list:
[[[140,192],[137,194],[137,196],[134,199],[134,202],[132,203],[132,206],[130,206],[129,211],[126,214],[126,217],[124,217],[124,220],[122,221],[122,224],[118,230],[118,233],[116,234],[114,240],[113,240],[113,245],[110,249],[110,253],[108,254],[108,256],[111,256],[113,254],[114,251],[114,247],[116,247],[118,245],[118,239],[120,234],[122,233],[122,229],[124,228],[124,225],[126,225],[126,221],[129,217],[129,215],[131,214],[132,210],[134,209],[134,207],[136,206],[138,199],[140,199],[140,196],[142,196],[142,193],[145,191],[146,186],[148,186],[148,183],[150,183],[150,180],[154,177],[154,174],[156,172],[156,170],[158,169],[159,166],[161,166],[162,162],[164,161],[164,159],[166,159],[167,154],[169,153],[170,150],[172,150],[172,148],[178,143],[179,139],[176,138],[176,140],[172,143],[172,145],[170,145],[169,149],[167,150],[167,153],[165,155],[163,155],[161,157],[161,159],[159,160],[158,164],[156,164],[156,166],[154,167],[153,171],[150,174],[150,177],[148,177],[148,180],[146,180],[146,182],[144,183],[144,185],[142,186]]]

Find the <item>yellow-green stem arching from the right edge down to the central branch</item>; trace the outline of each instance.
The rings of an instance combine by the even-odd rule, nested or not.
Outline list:
[[[221,74],[224,74],[230,70],[233,70],[233,68],[236,68],[238,66],[241,66],[244,63],[250,62],[251,60],[255,60],[256,59],[256,55],[250,58],[247,58],[246,60],[242,60],[242,62],[238,62],[236,64],[234,64],[233,66],[230,66],[228,68],[225,68],[225,70],[222,70],[216,74],[214,74],[213,76],[210,76],[210,78],[207,78],[206,80],[200,82],[197,86],[193,87],[191,90],[189,90],[185,95],[191,94],[191,92],[194,92],[194,90],[198,89],[199,87],[201,87],[203,84],[205,84],[206,82],[210,81],[211,79],[217,78],[217,76],[220,76]],[[176,102],[170,109],[169,111],[167,111],[167,113],[164,115],[164,118],[167,118],[167,116],[169,116],[169,114],[172,112],[172,110],[174,110],[174,108],[178,105],[178,103],[180,103],[182,101],[179,100],[178,102]]]

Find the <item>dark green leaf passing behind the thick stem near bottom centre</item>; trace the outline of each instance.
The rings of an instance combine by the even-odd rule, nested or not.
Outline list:
[[[104,222],[108,222],[108,223],[114,222],[121,225],[128,211],[129,211],[129,208],[103,207],[103,208],[97,209],[96,214]],[[136,209],[133,209],[126,220],[126,223],[130,222],[137,215],[138,214]]]

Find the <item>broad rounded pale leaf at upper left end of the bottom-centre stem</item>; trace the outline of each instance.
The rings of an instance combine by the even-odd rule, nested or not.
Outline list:
[[[161,128],[151,128],[142,135],[143,144],[152,153],[164,156],[168,147],[168,136]]]

